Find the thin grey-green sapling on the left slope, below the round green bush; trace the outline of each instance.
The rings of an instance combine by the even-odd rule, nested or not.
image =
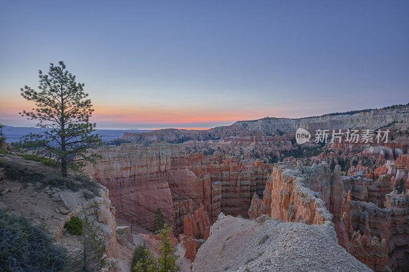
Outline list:
[[[84,272],[100,271],[105,264],[105,242],[98,237],[99,227],[88,217],[83,219],[82,250],[77,257],[78,267]]]

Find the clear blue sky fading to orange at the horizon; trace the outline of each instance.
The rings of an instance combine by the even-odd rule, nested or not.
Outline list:
[[[409,102],[409,1],[0,2],[0,123],[63,60],[99,129],[212,128]]]

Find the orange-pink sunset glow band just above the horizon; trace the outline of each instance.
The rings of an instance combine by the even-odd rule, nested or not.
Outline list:
[[[35,107],[31,101],[26,101],[18,96],[6,95],[0,102],[0,119],[22,120],[18,112],[23,109],[31,110]],[[207,130],[208,126],[217,123],[233,123],[237,120],[258,119],[267,115],[267,109],[219,109],[211,105],[203,105],[201,107],[189,107],[179,105],[169,105],[161,107],[157,105],[107,105],[94,104],[95,112],[92,116],[94,122],[115,122],[115,123],[139,123],[139,124],[179,124],[179,129],[189,130]],[[276,109],[279,113],[281,110]],[[203,127],[200,127],[200,124]],[[185,127],[182,127],[186,124]],[[193,126],[189,128],[188,126]],[[178,126],[178,125],[174,125]],[[213,125],[210,125],[213,126]]]

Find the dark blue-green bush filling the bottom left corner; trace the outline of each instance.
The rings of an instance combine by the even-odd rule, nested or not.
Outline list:
[[[61,271],[67,260],[43,225],[0,210],[1,271]]]

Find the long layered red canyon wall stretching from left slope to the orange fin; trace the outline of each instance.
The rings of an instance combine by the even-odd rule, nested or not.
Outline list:
[[[155,143],[103,146],[97,163],[84,171],[109,189],[117,216],[152,230],[160,208],[175,235],[184,218],[203,205],[214,222],[223,211],[247,215],[253,193],[262,195],[271,165],[256,160],[239,163],[219,152],[186,155],[183,145]]]

